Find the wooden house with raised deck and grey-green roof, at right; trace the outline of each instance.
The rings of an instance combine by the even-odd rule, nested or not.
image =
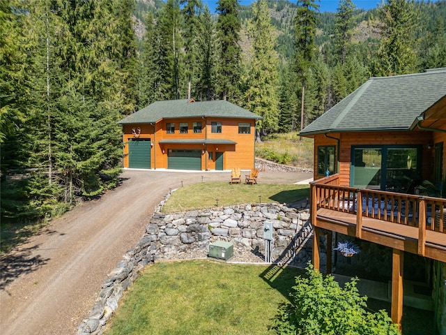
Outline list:
[[[344,234],[392,250],[391,317],[403,312],[404,255],[420,255],[436,332],[446,334],[446,68],[372,77],[302,130],[314,138],[313,263],[319,237]],[[445,193],[443,193],[445,197]]]

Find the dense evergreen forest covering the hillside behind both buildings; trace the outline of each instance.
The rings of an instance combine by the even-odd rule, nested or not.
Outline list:
[[[118,184],[117,121],[225,99],[299,131],[369,77],[446,67],[446,2],[0,1],[1,217],[36,221]]]

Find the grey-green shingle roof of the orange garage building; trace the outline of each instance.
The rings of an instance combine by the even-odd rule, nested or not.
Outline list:
[[[160,119],[188,117],[230,117],[237,119],[261,119],[249,110],[224,100],[195,101],[190,99],[156,101],[142,110],[134,112],[118,124],[149,124]]]

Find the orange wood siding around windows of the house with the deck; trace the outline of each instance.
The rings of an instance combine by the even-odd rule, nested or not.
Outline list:
[[[427,144],[432,142],[432,133],[428,131],[383,131],[383,132],[357,132],[357,133],[330,133],[330,137],[340,140],[339,152],[339,184],[350,185],[351,147],[360,145],[385,144],[422,144],[422,179],[429,179],[432,173],[432,151]],[[446,138],[445,138],[446,139]],[[314,136],[314,180],[325,176],[317,172],[317,148],[321,145],[337,146],[337,141],[324,135]]]

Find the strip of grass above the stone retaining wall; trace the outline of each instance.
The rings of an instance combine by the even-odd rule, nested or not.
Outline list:
[[[162,211],[172,213],[190,209],[205,209],[236,204],[261,202],[295,202],[309,196],[308,185],[292,184],[229,184],[202,182],[178,188],[167,200]],[[260,198],[259,198],[260,197]],[[218,201],[217,201],[218,200]]]

